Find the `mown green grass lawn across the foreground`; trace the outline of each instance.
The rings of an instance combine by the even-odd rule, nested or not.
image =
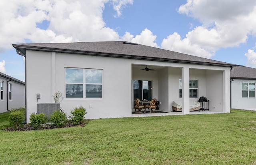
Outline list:
[[[95,119],[84,127],[0,131],[0,164],[255,165],[256,112]]]

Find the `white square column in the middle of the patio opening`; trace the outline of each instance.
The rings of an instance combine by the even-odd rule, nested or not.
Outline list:
[[[189,114],[189,68],[182,68],[182,115]]]

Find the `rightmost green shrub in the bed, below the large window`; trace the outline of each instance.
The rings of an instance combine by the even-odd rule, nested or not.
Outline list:
[[[84,115],[87,112],[86,109],[80,105],[80,107],[76,107],[70,113],[71,115],[69,115],[69,118],[74,124],[78,125],[82,123],[82,121],[84,120]]]

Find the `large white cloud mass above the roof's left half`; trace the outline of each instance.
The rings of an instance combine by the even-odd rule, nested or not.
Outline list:
[[[0,3],[0,52],[11,43],[82,42],[120,40],[105,26],[104,5],[110,2],[117,16],[133,0],[2,0]],[[47,21],[46,29],[38,24]]]

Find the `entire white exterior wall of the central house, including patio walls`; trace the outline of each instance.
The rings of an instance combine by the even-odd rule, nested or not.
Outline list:
[[[198,97],[206,96],[210,99],[210,104],[212,101],[216,104],[215,109],[218,111],[229,111],[226,108],[229,105],[229,100],[226,100],[227,91],[229,95],[229,86],[227,90],[223,90],[223,85],[227,87],[227,80],[229,83],[229,68],[227,67],[39,51],[27,51],[26,64],[28,122],[30,114],[37,111],[36,93],[41,94],[38,103],[52,103],[54,102],[52,95],[57,91],[60,91],[64,97],[60,107],[68,114],[70,110],[82,105],[86,108],[88,119],[130,117],[133,108],[132,80],[152,81],[152,97],[161,102],[160,110],[171,111],[172,101],[180,99],[179,79],[182,78],[182,68],[186,68],[184,76],[187,80],[198,80]],[[161,66],[162,69],[156,72],[133,70],[132,65],[137,64]],[[102,69],[102,98],[65,98],[66,67]],[[223,74],[224,71],[228,73],[228,77],[227,74]],[[189,78],[187,78],[188,75]],[[188,85],[188,82],[186,84]],[[186,92],[189,94],[189,91]],[[194,101],[194,99],[185,99],[184,103],[188,105],[189,101]],[[228,103],[224,103],[225,101]],[[225,107],[217,106],[217,103]]]

